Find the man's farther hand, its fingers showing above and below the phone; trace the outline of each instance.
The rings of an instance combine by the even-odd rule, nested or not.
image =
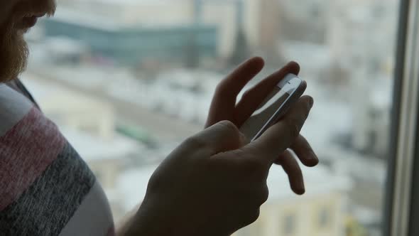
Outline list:
[[[288,63],[284,68],[246,91],[241,100],[236,102],[237,95],[251,79],[261,72],[263,65],[262,58],[251,58],[219,83],[209,109],[205,127],[223,120],[228,120],[234,123],[236,127],[241,127],[285,75],[288,73],[298,75],[300,72],[300,66],[297,63]],[[316,166],[319,162],[310,144],[303,136],[299,135],[295,141],[292,141],[290,149],[305,166]],[[278,155],[275,163],[283,166],[288,174],[293,191],[297,194],[303,194],[305,191],[303,174],[293,153],[290,150],[285,150]]]

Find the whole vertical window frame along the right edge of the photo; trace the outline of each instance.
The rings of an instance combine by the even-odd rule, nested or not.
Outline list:
[[[394,71],[391,140],[382,230],[384,236],[418,235],[419,225],[419,3],[401,0]]]

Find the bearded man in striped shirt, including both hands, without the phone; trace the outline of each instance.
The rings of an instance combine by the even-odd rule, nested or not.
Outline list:
[[[0,235],[232,235],[259,217],[273,164],[283,166],[295,193],[304,193],[300,167],[288,150],[306,166],[318,163],[299,135],[313,100],[301,97],[249,143],[237,127],[286,74],[299,71],[297,63],[288,63],[236,103],[263,68],[261,58],[251,58],[220,82],[205,129],[160,164],[146,197],[138,199],[141,207],[115,230],[92,171],[18,80],[29,53],[24,33],[54,12],[54,0],[0,2]]]

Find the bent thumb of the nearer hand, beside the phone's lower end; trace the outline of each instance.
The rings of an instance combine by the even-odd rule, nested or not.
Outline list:
[[[202,130],[186,141],[192,149],[203,149],[209,156],[239,149],[247,143],[246,136],[241,134],[235,124],[227,120]]]

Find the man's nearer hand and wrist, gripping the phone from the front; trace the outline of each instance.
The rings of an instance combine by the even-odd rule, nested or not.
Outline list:
[[[184,141],[153,173],[128,235],[227,236],[254,222],[268,199],[269,169],[298,138],[311,107],[312,98],[301,97],[251,143],[227,121]],[[300,174],[292,157],[281,162],[290,178]]]

